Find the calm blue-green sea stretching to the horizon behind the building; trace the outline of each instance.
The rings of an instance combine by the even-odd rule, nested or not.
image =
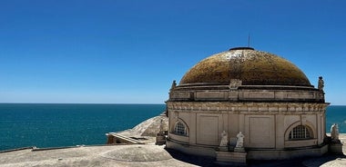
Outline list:
[[[165,104],[0,103],[0,151],[105,144],[106,133],[133,128],[165,109]],[[345,113],[346,106],[328,107],[327,133],[332,123],[346,133]]]

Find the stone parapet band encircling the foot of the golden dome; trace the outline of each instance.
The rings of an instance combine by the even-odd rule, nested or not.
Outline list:
[[[169,93],[173,102],[316,102],[324,103],[324,93],[317,89],[175,89]]]

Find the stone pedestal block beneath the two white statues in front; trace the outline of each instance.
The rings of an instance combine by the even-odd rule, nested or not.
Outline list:
[[[246,166],[247,152],[216,152],[216,155],[216,163]]]

